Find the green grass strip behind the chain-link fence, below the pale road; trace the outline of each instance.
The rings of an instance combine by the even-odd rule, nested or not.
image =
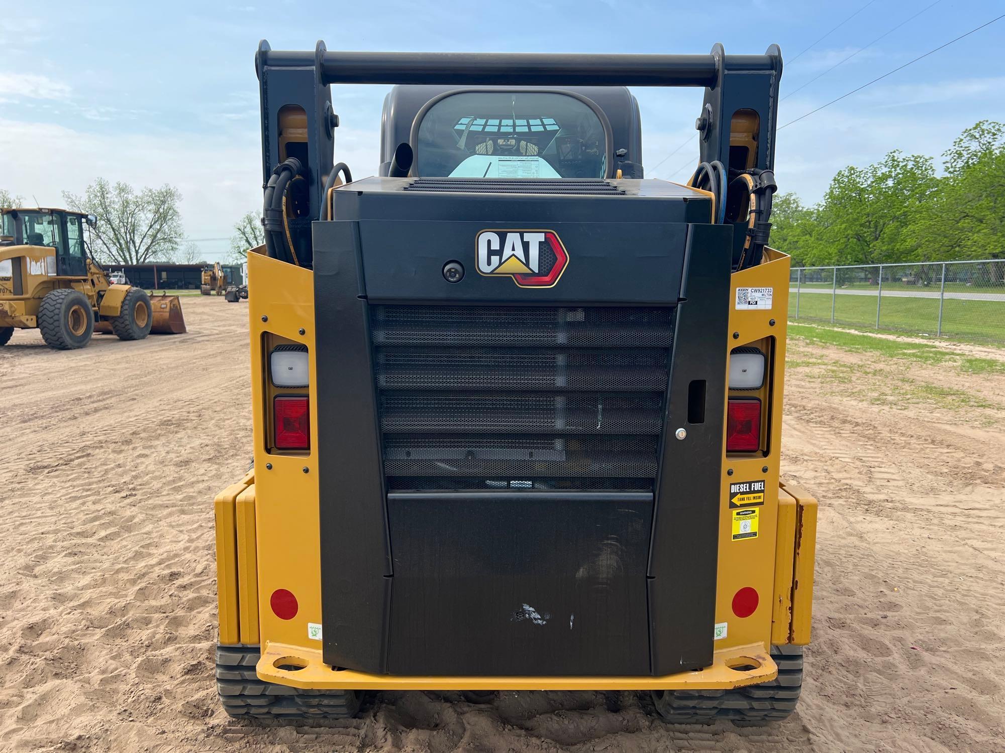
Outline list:
[[[834,296],[809,293],[799,296],[799,319],[830,322]],[[789,294],[789,316],[796,318],[796,294]],[[838,295],[834,300],[834,323],[874,328],[876,298],[870,295]],[[939,328],[938,298],[883,298],[879,328],[936,336]],[[1005,344],[1005,301],[947,298],[943,307],[942,336]]]

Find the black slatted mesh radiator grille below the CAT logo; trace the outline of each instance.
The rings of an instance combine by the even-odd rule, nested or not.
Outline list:
[[[371,306],[389,489],[651,489],[670,308]]]

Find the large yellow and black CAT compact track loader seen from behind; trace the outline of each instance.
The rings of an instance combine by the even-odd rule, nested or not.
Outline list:
[[[779,48],[262,42],[255,66],[254,463],[215,500],[227,712],[623,690],[671,722],[788,716],[816,502],[779,478]],[[333,165],[336,83],[396,84],[376,177]],[[626,86],[705,89],[687,185],[643,179]]]

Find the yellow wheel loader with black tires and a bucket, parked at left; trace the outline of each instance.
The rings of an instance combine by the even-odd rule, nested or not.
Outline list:
[[[0,209],[0,345],[37,327],[50,347],[83,347],[95,331],[138,340],[184,332],[177,296],[113,284],[87,253],[93,215],[62,209]]]

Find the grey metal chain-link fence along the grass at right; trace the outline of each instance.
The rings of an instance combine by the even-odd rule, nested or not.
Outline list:
[[[1005,344],[1005,259],[797,267],[789,317]]]

